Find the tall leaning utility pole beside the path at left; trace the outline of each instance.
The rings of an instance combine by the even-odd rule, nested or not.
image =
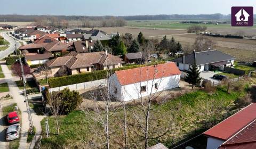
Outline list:
[[[15,41],[15,53],[17,54],[17,42],[16,42],[15,38],[14,38],[14,41]],[[28,104],[28,96],[27,96],[27,93],[26,93],[26,78],[25,78],[25,75],[24,75],[23,64],[21,62],[21,57],[20,56],[19,56],[19,61],[20,61],[20,68],[21,68],[22,80],[23,80],[23,86],[24,86],[24,89],[23,89],[24,98],[25,98],[24,102],[26,103],[27,112],[28,112],[28,122],[29,122],[30,134],[32,134],[33,131],[34,131],[34,129],[33,129],[34,125],[33,125],[33,120],[32,120],[32,117],[31,117],[30,107],[29,107],[29,104]]]

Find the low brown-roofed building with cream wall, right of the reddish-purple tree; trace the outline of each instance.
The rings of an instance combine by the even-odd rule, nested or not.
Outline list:
[[[28,65],[34,64],[43,64],[46,61],[49,61],[53,55],[51,53],[44,53],[44,54],[27,54],[25,55],[25,60]]]

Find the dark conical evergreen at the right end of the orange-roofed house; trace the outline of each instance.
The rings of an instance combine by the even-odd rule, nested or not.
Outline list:
[[[196,63],[194,63],[192,67],[189,67],[187,76],[185,76],[185,81],[191,84],[193,89],[195,85],[201,82],[201,79],[199,69],[197,68]]]

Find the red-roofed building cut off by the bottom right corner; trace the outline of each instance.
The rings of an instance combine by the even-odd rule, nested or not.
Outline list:
[[[207,149],[256,148],[256,103],[205,131],[204,135]]]

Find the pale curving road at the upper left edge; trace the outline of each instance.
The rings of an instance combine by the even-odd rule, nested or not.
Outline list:
[[[5,51],[0,52],[0,60],[2,60],[5,56],[8,56],[10,53],[12,53],[15,49],[15,40],[6,34],[7,32],[0,32],[0,35],[4,37],[5,40],[7,40],[10,45],[9,48],[5,49]],[[17,47],[20,47],[20,43],[17,41]]]

